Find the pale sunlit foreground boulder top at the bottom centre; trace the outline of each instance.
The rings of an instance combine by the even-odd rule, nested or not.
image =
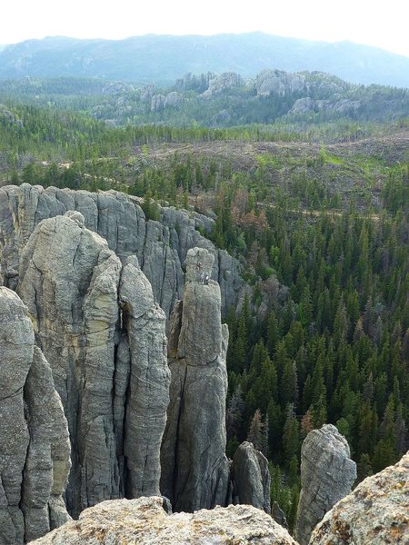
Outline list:
[[[248,505],[168,515],[163,503],[157,497],[104,501],[33,545],[296,545],[287,530]]]

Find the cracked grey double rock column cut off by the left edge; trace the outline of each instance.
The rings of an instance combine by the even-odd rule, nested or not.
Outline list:
[[[69,519],[70,444],[50,366],[27,309],[0,287],[0,543],[35,540]]]

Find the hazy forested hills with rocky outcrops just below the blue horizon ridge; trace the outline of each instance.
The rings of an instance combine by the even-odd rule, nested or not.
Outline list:
[[[90,114],[110,126],[260,124],[263,130],[267,124],[281,124],[283,132],[294,132],[317,124],[379,123],[409,114],[407,89],[276,69],[252,79],[234,72],[189,73],[167,86],[67,77],[0,80],[0,101],[7,100]]]

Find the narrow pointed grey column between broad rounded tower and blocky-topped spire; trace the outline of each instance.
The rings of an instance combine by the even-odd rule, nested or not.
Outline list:
[[[129,346],[130,381],[126,404],[124,454],[130,498],[159,494],[160,448],[169,404],[165,312],[154,302],[152,286],[135,256],[121,275],[119,301]]]

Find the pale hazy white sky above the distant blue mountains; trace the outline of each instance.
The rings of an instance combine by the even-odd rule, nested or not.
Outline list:
[[[0,44],[46,35],[131,35],[261,30],[311,40],[350,40],[409,56],[405,0],[5,0]]]

